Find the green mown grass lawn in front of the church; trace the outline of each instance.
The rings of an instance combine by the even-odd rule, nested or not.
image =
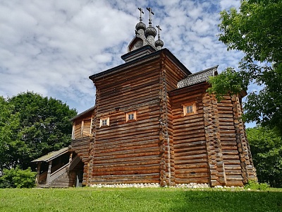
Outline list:
[[[282,211],[282,189],[0,189],[0,211]]]

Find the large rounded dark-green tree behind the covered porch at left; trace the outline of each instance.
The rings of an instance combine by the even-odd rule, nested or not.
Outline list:
[[[77,112],[61,100],[27,92],[0,98],[0,104],[4,106],[0,110],[0,170],[17,165],[27,169],[33,165],[30,161],[70,143],[69,119]]]

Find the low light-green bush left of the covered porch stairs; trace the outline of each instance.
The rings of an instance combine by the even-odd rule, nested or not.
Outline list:
[[[0,177],[0,188],[32,188],[35,187],[36,172],[30,167],[20,170],[19,167],[4,169]]]

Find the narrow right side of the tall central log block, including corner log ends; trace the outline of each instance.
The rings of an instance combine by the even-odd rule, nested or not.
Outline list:
[[[177,89],[177,83],[187,77],[187,73],[171,61],[165,54],[161,54],[160,60],[160,111],[161,127],[159,140],[161,144],[160,185],[176,185],[176,163],[173,138],[173,111],[169,92]]]

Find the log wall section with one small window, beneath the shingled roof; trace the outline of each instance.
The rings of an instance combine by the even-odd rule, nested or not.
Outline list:
[[[209,183],[202,104],[205,89],[202,86],[192,86],[170,93],[176,184]],[[184,116],[183,104],[188,102],[195,102],[197,112]]]

